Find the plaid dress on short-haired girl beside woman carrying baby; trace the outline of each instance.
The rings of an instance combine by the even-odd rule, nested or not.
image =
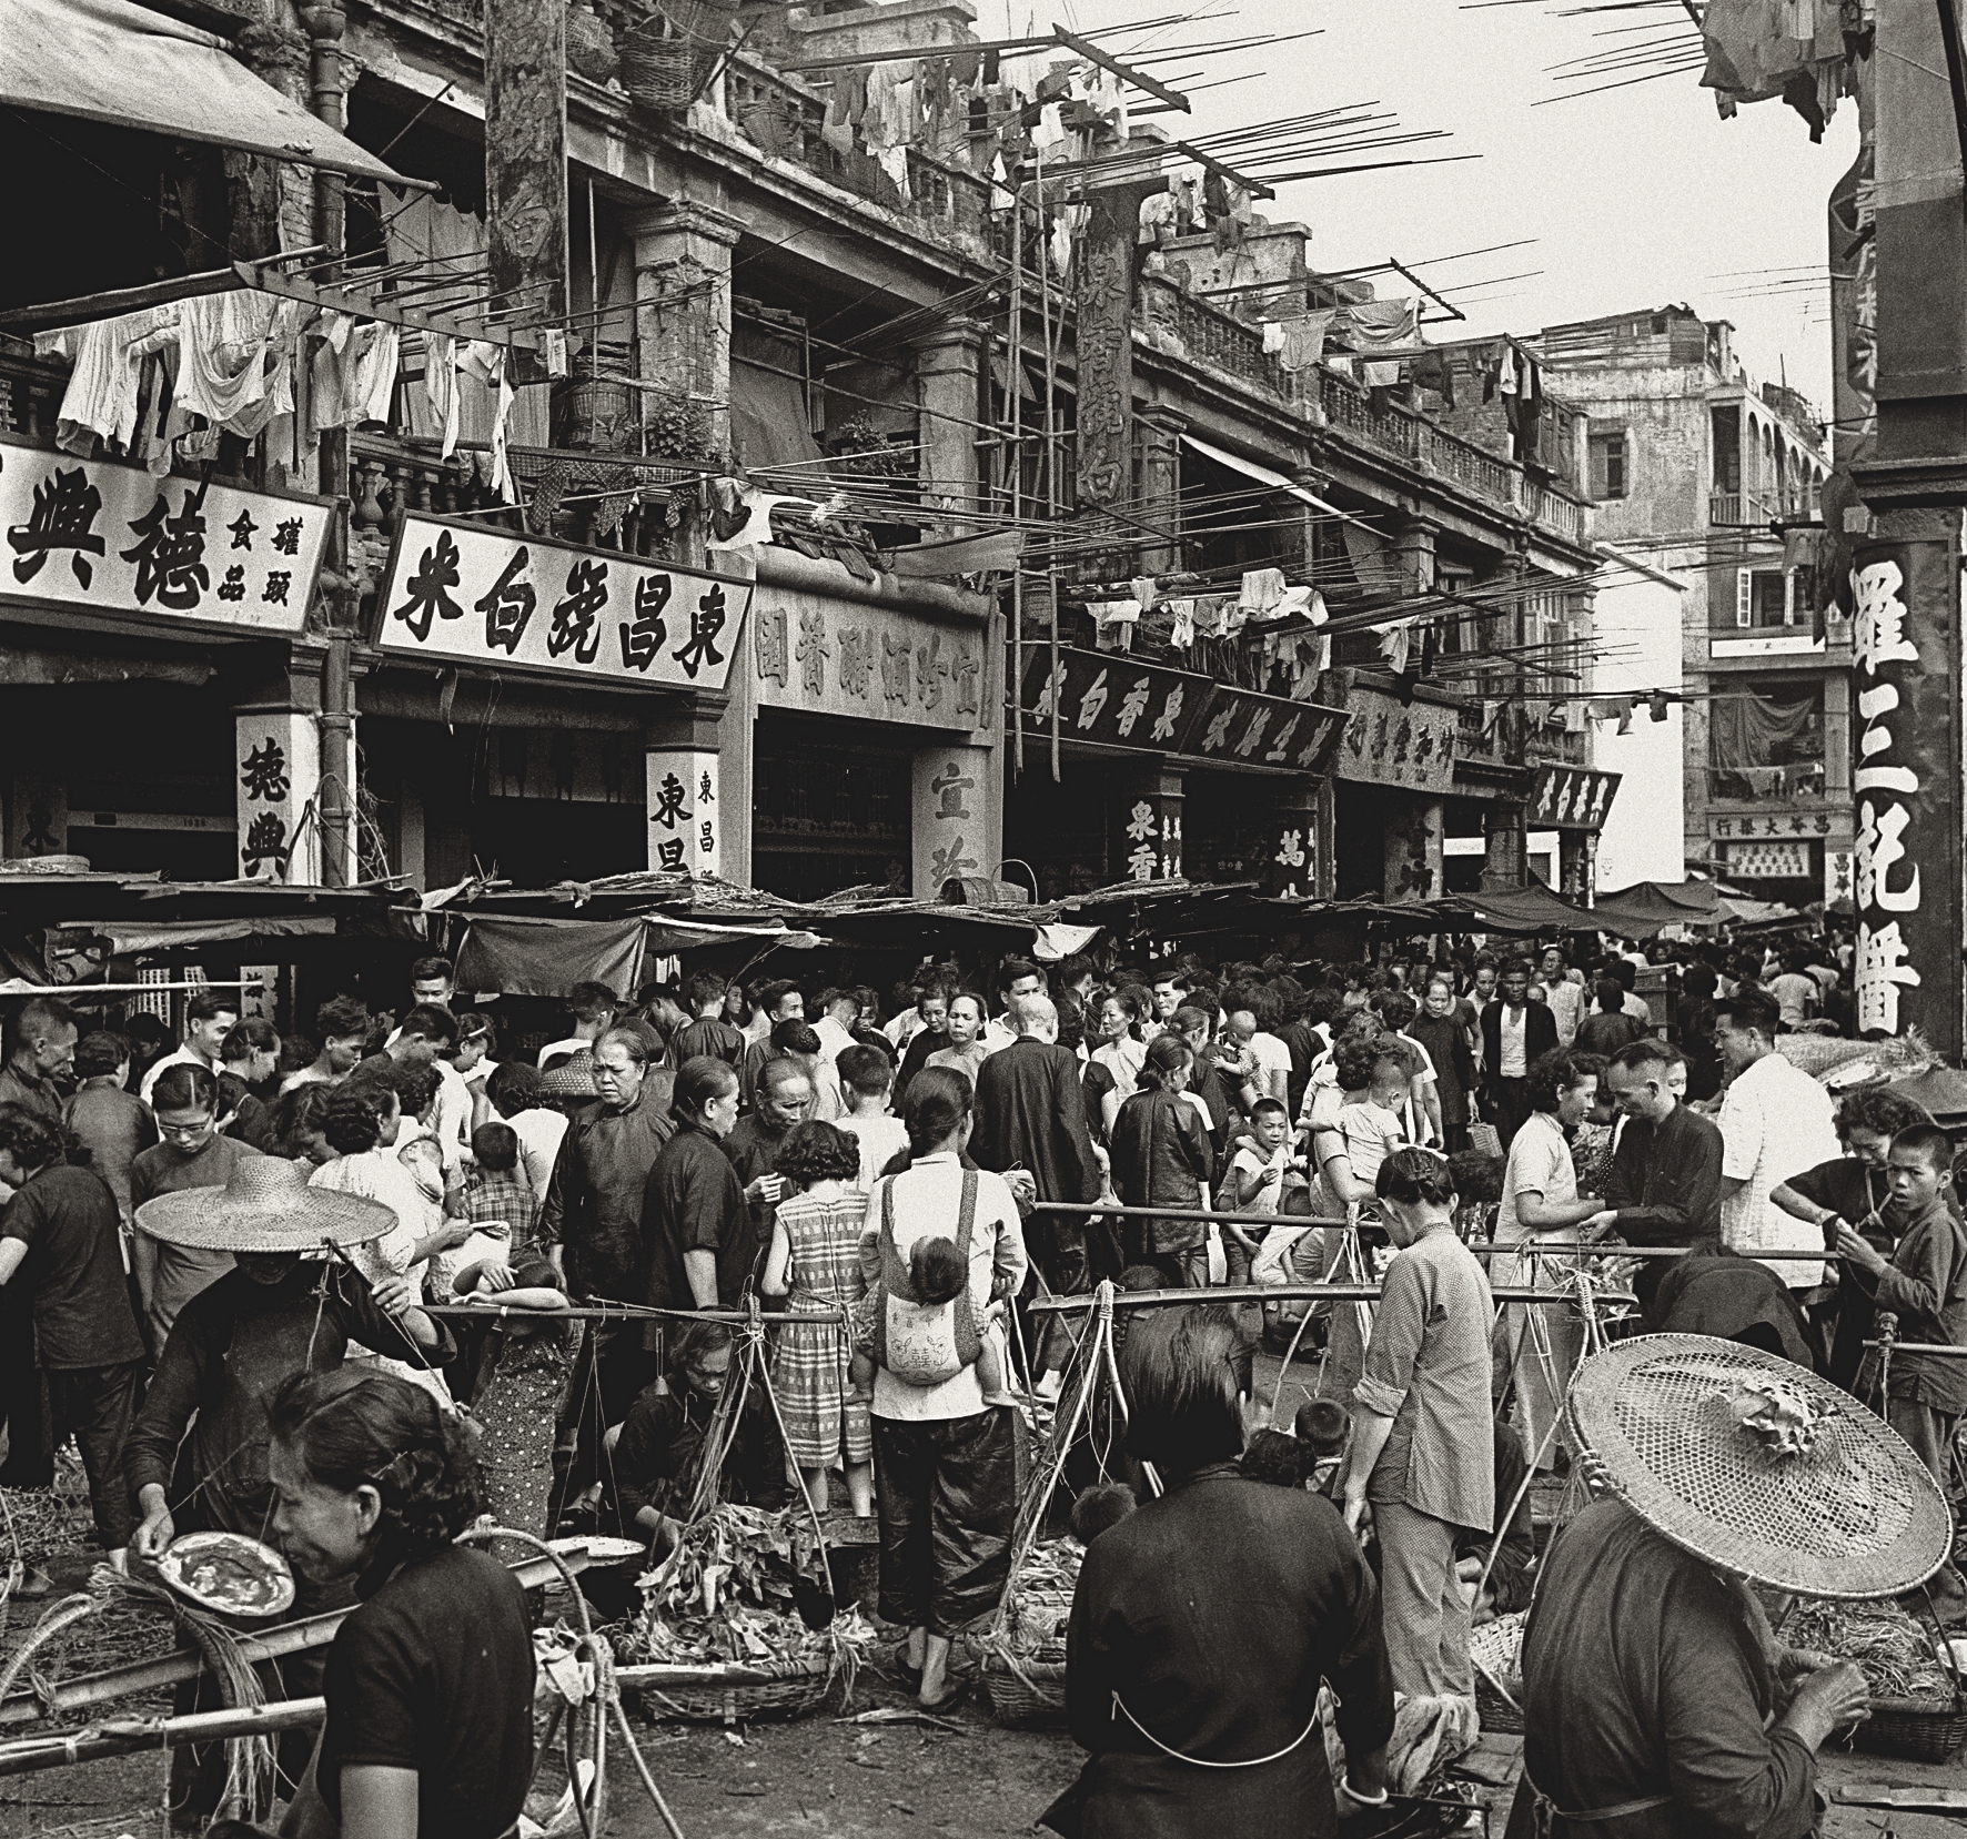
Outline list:
[[[840,1310],[852,1308],[867,1290],[860,1269],[865,1217],[867,1196],[858,1188],[838,1200],[801,1194],[779,1202],[779,1225],[793,1243],[787,1310],[818,1318],[781,1328],[771,1367],[779,1410],[785,1412],[787,1450],[803,1469],[873,1459],[867,1406],[848,1398],[850,1347],[840,1328]]]

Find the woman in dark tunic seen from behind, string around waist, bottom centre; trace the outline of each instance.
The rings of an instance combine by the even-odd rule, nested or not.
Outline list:
[[[1143,1312],[1127,1452],[1166,1493],[1086,1552],[1066,1715],[1092,1752],[1044,1815],[1084,1839],[1340,1831],[1318,1686],[1340,1697],[1351,1802],[1385,1800],[1393,1676],[1379,1595],[1338,1509],[1237,1471],[1249,1349],[1222,1308]]]

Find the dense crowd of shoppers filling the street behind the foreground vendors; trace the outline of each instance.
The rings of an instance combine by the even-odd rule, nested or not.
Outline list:
[[[1328,1495],[1326,1558],[1263,1601],[1347,1605],[1314,1674],[1359,1682],[1357,1715],[1341,1697],[1367,1756],[1381,1684],[1471,1711],[1471,1619],[1528,1601],[1530,1477],[1580,1453],[1562,1404],[1587,1341],[1580,1273],[1603,1275],[1587,1261],[1629,1257],[1644,1328],[1735,1339],[1875,1402],[1957,1497],[1967,1371],[1906,1353],[1880,1398],[1871,1345],[1884,1312],[1906,1343],[1967,1345],[1951,1145],[1888,1090],[1833,1109],[1782,1052],[1837,1027],[1849,948],[1819,944],[924,960],[885,1001],[696,972],[637,1003],[578,985],[568,1033],[527,1056],[502,1052],[498,1005],[464,1007],[443,958],[411,968],[401,1019],[336,995],[307,1037],[220,991],[189,1001],[175,1044],[148,1017],[83,1033],[33,999],[0,1068],[0,1328],[26,1330],[0,1334],[0,1485],[47,1485],[73,1436],[114,1562],[285,1526],[299,1558],[295,1503],[368,1485],[309,1430],[346,1412],[354,1442],[393,1424],[435,1452],[433,1475],[460,1461],[462,1426],[472,1505],[500,1526],[661,1550],[714,1453],[724,1499],[879,1520],[881,1617],[940,1709],[962,1690],[952,1640],[1007,1581],[1019,1412],[1072,1373],[1060,1318],[1025,1304],[1229,1284],[1229,1308],[1149,1312],[1131,1359],[1161,1347],[1166,1369],[1168,1335],[1182,1359],[1216,1335],[1249,1394],[1259,1341],[1302,1349],[1316,1396],[1296,1448],[1245,1452],[1241,1418],[1190,1448],[1180,1410],[1157,1420],[1145,1394],[1135,1440],[1162,1469],[1269,1465]],[[1326,1280],[1381,1294],[1298,1294]],[[1495,1290],[1550,1300],[1499,1310]],[[712,1436],[744,1324],[706,1312],[753,1302],[781,1318],[771,1398]],[[472,1304],[496,1326],[448,1312]],[[635,1314],[576,1322],[568,1304]],[[1170,1371],[1141,1383],[1194,1404]],[[387,1544],[389,1489],[370,1493]],[[1155,1589],[1223,1514],[1281,1532],[1304,1513],[1174,1499],[1157,1503],[1164,1546],[1139,1554]],[[360,1566],[299,1568],[295,1615],[372,1595]],[[1241,1629],[1247,1593],[1196,1587],[1218,1585]],[[285,1664],[287,1691],[319,1680],[319,1650]],[[1072,1699],[1080,1741],[1111,1749],[1088,1741],[1105,1713],[1078,1682]],[[1202,1750],[1243,1745],[1198,1717]],[[1296,1717],[1286,1695],[1263,1729],[1290,1737]],[[295,1778],[305,1760],[287,1758]],[[187,1825],[216,1768],[177,1752]]]

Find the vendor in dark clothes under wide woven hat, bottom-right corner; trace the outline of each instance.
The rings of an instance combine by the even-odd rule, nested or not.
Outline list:
[[[1804,1839],[1865,1676],[1776,1642],[1747,1579],[1914,1589],[1947,1554],[1943,1497],[1847,1394],[1735,1341],[1623,1341],[1568,1416],[1601,1499],[1542,1564],[1507,1839]]]

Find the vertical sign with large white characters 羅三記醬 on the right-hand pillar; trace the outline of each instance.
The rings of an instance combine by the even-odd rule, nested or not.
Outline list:
[[[1936,513],[1880,519],[1920,523]],[[1941,513],[1943,515],[1943,513]],[[1953,513],[1957,519],[1957,513]],[[1914,525],[1918,529],[1918,523]],[[1851,568],[1857,1031],[1961,1050],[1961,682],[1953,533],[1863,543]]]

